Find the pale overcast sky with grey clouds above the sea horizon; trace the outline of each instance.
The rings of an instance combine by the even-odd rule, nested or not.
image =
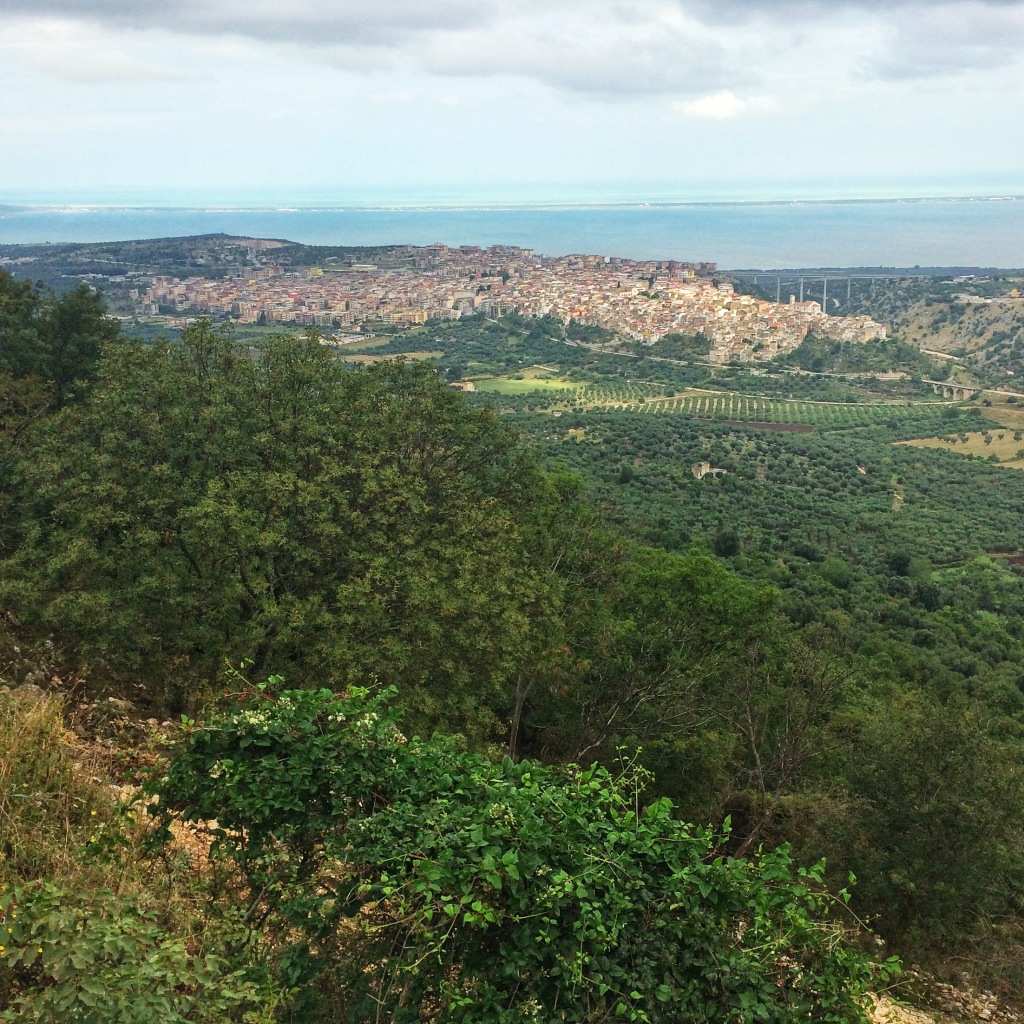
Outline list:
[[[1024,0],[0,0],[0,203],[1024,194]]]

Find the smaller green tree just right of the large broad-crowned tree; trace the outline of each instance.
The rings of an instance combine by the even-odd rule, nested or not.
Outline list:
[[[698,731],[705,693],[756,646],[772,598],[708,556],[632,548],[567,603],[568,658],[534,724],[541,749],[584,760]]]

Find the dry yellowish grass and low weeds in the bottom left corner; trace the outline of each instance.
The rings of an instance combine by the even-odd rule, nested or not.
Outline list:
[[[115,806],[124,750],[67,713],[0,692],[0,1021],[269,1022],[276,989],[207,913],[219,880],[181,849],[143,856],[138,808]]]

